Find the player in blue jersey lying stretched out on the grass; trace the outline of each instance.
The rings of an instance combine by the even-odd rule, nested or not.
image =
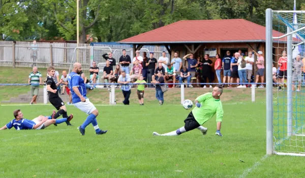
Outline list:
[[[71,114],[68,118],[52,119],[51,116],[38,116],[33,120],[23,119],[23,114],[20,110],[13,112],[15,119],[9,122],[7,125],[0,128],[0,130],[11,129],[15,127],[16,130],[27,130],[27,129],[44,129],[52,124],[60,124],[66,121],[71,121],[73,115]]]

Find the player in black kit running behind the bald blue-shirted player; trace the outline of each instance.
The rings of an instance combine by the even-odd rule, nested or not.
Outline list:
[[[53,111],[52,119],[56,119],[60,115],[63,115],[63,118],[68,118],[67,108],[65,106],[65,103],[63,102],[62,98],[58,96],[58,92],[57,92],[57,86],[63,82],[63,79],[60,79],[60,81],[55,84],[52,78],[55,74],[55,68],[53,66],[50,66],[48,67],[47,70],[48,70],[48,77],[46,80],[46,85],[48,90],[49,101],[58,111],[57,113]],[[69,121],[67,121],[66,123],[68,126],[72,126]]]

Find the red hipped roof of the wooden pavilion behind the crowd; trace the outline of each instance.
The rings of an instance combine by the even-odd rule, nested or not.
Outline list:
[[[244,19],[181,20],[119,41],[127,44],[265,42],[265,27]],[[273,30],[273,37],[284,33]],[[281,40],[285,40],[284,38]],[[278,40],[276,40],[278,41]]]

